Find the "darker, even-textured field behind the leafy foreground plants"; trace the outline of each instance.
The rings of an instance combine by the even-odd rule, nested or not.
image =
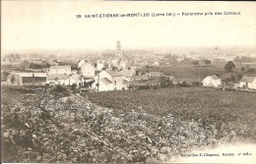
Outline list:
[[[154,116],[171,114],[179,120],[201,122],[204,128],[214,124],[220,137],[234,131],[237,137],[256,141],[255,92],[184,87],[100,92],[91,94],[90,100],[120,111],[141,108]]]

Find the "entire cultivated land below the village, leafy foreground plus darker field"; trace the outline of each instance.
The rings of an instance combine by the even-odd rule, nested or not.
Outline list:
[[[255,93],[187,87],[62,101],[61,94],[38,91],[2,87],[4,162],[160,163],[256,141]]]

